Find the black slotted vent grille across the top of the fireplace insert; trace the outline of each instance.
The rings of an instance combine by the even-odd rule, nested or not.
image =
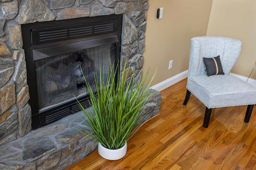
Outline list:
[[[112,33],[116,31],[116,20],[33,29],[31,31],[32,45],[76,39],[81,37]]]

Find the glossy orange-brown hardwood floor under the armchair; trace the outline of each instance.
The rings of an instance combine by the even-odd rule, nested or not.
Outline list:
[[[162,91],[159,115],[128,141],[127,154],[105,160],[96,150],[66,170],[256,170],[256,107],[212,110],[202,127],[205,106],[192,94],[186,106],[186,79]]]

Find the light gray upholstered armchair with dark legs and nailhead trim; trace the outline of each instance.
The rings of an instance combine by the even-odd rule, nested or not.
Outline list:
[[[212,108],[216,107],[248,105],[244,122],[249,122],[256,104],[256,87],[229,74],[240,55],[241,45],[241,41],[228,37],[205,36],[191,39],[187,93],[183,104],[187,104],[192,93],[206,106],[204,128],[208,127]],[[220,56],[220,65],[215,58],[217,56]],[[213,63],[213,68],[216,69],[214,74],[217,75],[206,75],[210,71],[208,67],[206,72],[209,65],[203,61],[205,58]],[[220,74],[221,66],[224,75]]]

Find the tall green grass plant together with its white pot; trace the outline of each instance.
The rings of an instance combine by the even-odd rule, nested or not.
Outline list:
[[[118,160],[126,154],[126,142],[149,120],[139,123],[140,118],[146,113],[142,110],[143,106],[154,94],[154,92],[148,94],[148,89],[156,73],[145,86],[148,72],[135,82],[135,72],[132,72],[128,78],[125,68],[126,64],[115,80],[119,72],[110,62],[107,78],[102,76],[102,70],[99,74],[94,74],[95,88],[85,79],[90,94],[91,109],[86,109],[78,102],[86,117],[84,122],[89,130],[77,130],[97,141],[99,154],[108,160]]]

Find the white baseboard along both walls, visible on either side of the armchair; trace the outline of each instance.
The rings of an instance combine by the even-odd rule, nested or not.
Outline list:
[[[230,73],[230,75],[240,78],[241,80],[244,80],[245,82],[247,80],[247,77],[240,76],[238,74]],[[165,88],[168,88],[169,86],[172,86],[173,84],[175,84],[175,83],[179,82],[180,80],[183,80],[184,78],[187,78],[187,77],[188,77],[188,70],[186,70],[180,74],[177,74],[176,76],[173,76],[167,80],[164,80],[163,82],[160,82],[159,84],[156,84],[156,85],[152,86],[151,88],[154,90],[158,90],[158,91],[164,90]],[[249,78],[247,82],[256,87],[256,80]]]

